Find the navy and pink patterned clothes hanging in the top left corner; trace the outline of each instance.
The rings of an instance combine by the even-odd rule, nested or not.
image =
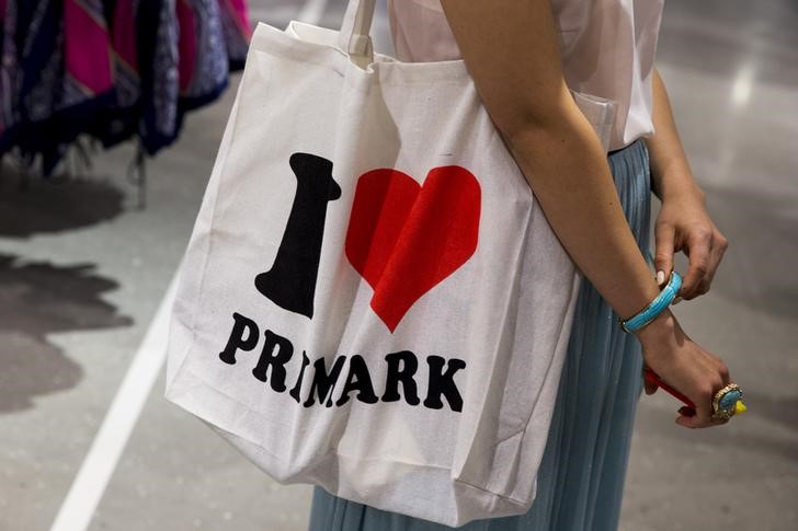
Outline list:
[[[152,155],[242,66],[244,0],[0,0],[0,154],[50,173],[78,136]]]

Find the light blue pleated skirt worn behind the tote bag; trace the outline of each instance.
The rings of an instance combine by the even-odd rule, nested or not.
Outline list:
[[[646,255],[651,208],[649,158],[638,140],[608,157],[624,212]],[[637,339],[586,280],[577,302],[551,430],[526,515],[479,520],[467,531],[586,531],[618,527],[637,401],[642,389]],[[452,529],[338,498],[316,488],[311,531]]]

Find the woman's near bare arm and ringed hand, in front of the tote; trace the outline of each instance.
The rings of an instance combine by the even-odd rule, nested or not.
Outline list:
[[[442,0],[477,90],[563,246],[622,316],[659,293],[624,218],[606,153],[565,83],[549,0]],[[726,366],[663,312],[638,333],[647,363],[711,420]]]

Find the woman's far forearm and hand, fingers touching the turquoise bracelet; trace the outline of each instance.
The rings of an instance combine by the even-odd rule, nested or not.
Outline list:
[[[689,256],[689,268],[680,296],[692,299],[709,291],[729,242],[707,213],[704,192],[689,169],[665,84],[657,70],[653,76],[653,124],[654,135],[646,139],[646,146],[651,157],[653,191],[662,200],[654,226],[658,280],[673,268],[673,253],[684,251]]]

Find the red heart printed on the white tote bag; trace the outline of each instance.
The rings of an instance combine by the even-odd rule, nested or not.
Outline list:
[[[477,250],[481,189],[465,168],[440,166],[420,186],[391,169],[357,180],[346,257],[372,286],[372,309],[394,332],[424,293]]]

